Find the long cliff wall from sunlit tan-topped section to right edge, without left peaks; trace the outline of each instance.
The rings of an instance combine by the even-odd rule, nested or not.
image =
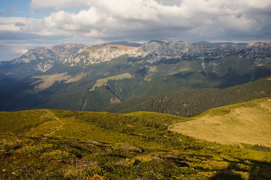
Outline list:
[[[249,45],[238,46],[235,44],[223,44],[217,47],[170,41],[164,43],[149,42],[140,47],[128,47],[122,45],[95,45],[82,48],[64,62],[71,66],[85,63],[100,63],[110,61],[112,58],[127,54],[131,57],[145,57],[140,63],[157,63],[165,59],[202,60],[212,61],[223,57],[238,55],[246,58],[258,59],[258,61],[270,60],[271,44],[256,42]]]

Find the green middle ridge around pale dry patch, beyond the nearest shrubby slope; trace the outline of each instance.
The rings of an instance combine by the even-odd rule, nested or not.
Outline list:
[[[238,108],[254,107],[263,102],[267,102],[267,98],[232,106]],[[230,107],[224,106],[211,109],[194,117],[194,119],[207,116],[216,117],[218,114],[220,116],[225,115],[230,110]],[[214,143],[214,140],[200,140],[201,137],[195,139],[168,129],[170,125],[178,125],[178,123],[189,120],[191,119],[153,112],[114,114],[108,112],[40,109],[0,112],[0,132],[36,134],[52,138],[68,137],[106,143],[123,143],[166,151],[186,152],[194,155],[217,154],[257,161],[271,161],[270,152],[249,149],[251,143],[248,143],[250,145],[247,145],[247,148],[231,147],[218,144],[221,143],[220,141]],[[201,128],[193,129],[193,131],[201,131]],[[261,141],[255,141],[252,145],[254,144],[260,145]]]

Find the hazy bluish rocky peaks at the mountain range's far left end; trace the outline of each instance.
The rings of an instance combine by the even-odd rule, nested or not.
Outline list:
[[[84,46],[83,44],[70,43],[56,45],[49,49],[37,47],[28,50],[20,58],[2,61],[0,64],[0,85],[12,84],[24,77],[45,72],[54,65],[63,63],[66,58]]]

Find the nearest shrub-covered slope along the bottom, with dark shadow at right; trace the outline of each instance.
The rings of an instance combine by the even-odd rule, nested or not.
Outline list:
[[[38,135],[2,134],[1,179],[270,179],[266,162]],[[235,150],[235,149],[232,149]]]

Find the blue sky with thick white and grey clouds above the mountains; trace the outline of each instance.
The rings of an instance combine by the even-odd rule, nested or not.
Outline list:
[[[0,1],[0,61],[37,46],[271,42],[270,0]]]

